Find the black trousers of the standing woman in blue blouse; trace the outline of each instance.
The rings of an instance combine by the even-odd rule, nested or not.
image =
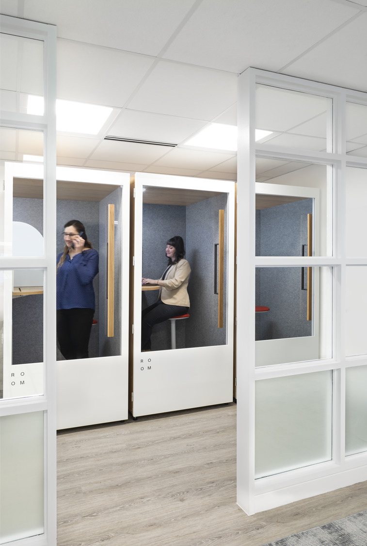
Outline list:
[[[88,358],[94,309],[58,309],[56,313],[57,341],[66,360]]]

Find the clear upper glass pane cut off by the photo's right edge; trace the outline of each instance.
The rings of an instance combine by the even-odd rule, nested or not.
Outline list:
[[[367,106],[346,105],[347,153],[350,156],[367,157]]]

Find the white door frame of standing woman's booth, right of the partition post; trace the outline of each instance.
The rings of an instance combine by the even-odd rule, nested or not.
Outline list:
[[[88,359],[58,360],[57,429],[109,423],[128,418],[129,375],[129,214],[130,174],[57,167],[57,181],[108,184],[122,188],[121,354]],[[56,351],[56,346],[55,346]]]

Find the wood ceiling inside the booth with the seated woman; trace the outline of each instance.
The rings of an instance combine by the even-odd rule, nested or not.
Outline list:
[[[209,199],[221,192],[208,192],[197,189],[158,188],[146,186],[143,192],[143,203],[148,205],[192,205]]]

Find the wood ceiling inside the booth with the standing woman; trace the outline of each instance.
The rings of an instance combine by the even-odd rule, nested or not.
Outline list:
[[[114,192],[118,186],[112,184],[94,184],[88,182],[67,182],[58,180],[57,199],[70,201],[101,201]],[[13,197],[43,199],[43,180],[14,178]]]

